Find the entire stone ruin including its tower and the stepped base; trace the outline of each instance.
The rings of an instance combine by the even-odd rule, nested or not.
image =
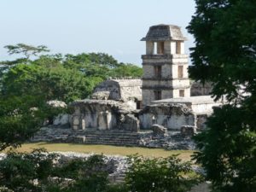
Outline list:
[[[55,128],[52,138],[173,149],[183,143],[180,136],[191,136],[205,128],[212,107],[222,102],[214,102],[209,96],[211,84],[203,86],[189,80],[189,56],[184,51],[186,38],[181,28],[151,26],[141,40],[146,42],[143,78],[102,82],[91,99],[71,103],[73,113],[55,118],[54,126],[60,129]],[[61,130],[63,126],[68,129]],[[43,132],[45,137],[52,133]],[[154,145],[152,138],[166,142]],[[34,141],[40,141],[39,137]]]

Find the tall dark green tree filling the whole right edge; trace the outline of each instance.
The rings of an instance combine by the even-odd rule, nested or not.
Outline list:
[[[195,141],[195,159],[213,189],[256,189],[256,2],[196,0],[188,30],[195,36],[189,76],[211,81],[212,96],[225,97],[207,130]]]

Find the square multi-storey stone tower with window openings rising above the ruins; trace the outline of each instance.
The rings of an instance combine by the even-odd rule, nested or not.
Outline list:
[[[151,101],[189,97],[189,56],[184,54],[187,40],[179,26],[150,26],[143,59],[143,106]]]

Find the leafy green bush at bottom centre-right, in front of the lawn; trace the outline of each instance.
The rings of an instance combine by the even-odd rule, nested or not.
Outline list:
[[[189,162],[182,162],[176,155],[153,159],[133,155],[128,162],[125,179],[131,191],[186,192],[200,178]]]

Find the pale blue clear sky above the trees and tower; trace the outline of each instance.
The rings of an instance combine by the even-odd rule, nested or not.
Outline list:
[[[194,39],[186,31],[194,0],[0,0],[0,61],[7,44],[46,45],[51,53],[104,52],[125,63],[142,63],[149,26],[182,27],[186,53]]]

